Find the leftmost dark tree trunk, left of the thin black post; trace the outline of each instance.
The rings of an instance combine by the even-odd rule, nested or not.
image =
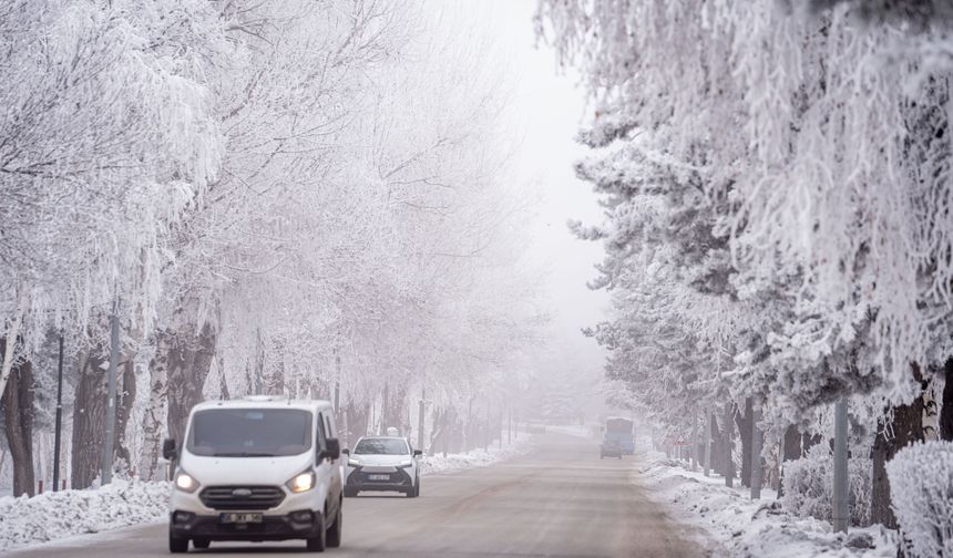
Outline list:
[[[0,354],[4,351],[6,342],[0,339]],[[33,365],[30,361],[11,365],[0,402],[7,425],[7,445],[13,459],[13,496],[33,496]]]

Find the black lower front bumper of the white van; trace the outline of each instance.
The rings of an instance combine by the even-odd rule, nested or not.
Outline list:
[[[324,526],[321,514],[308,509],[266,515],[262,523],[222,524],[218,517],[175,510],[168,517],[170,534],[181,539],[287,540],[318,537]]]

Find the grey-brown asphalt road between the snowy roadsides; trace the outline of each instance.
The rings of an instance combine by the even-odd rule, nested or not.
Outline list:
[[[530,454],[421,482],[421,496],[345,499],[345,539],[334,558],[695,557],[706,552],[648,500],[632,457],[598,458],[595,442],[540,436]],[[287,556],[304,541],[213,542],[189,555]],[[166,526],[153,524],[9,552],[113,558],[168,556]]]

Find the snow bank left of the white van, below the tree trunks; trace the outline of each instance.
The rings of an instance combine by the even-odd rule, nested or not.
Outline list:
[[[0,551],[163,519],[168,490],[168,483],[115,479],[102,488],[0,497]]]

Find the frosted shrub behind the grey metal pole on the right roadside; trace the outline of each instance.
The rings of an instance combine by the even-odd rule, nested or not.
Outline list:
[[[868,457],[848,459],[850,523],[870,523],[870,492],[873,464]],[[831,520],[833,516],[833,456],[817,445],[800,459],[785,463],[782,483],[785,508],[800,517]]]

